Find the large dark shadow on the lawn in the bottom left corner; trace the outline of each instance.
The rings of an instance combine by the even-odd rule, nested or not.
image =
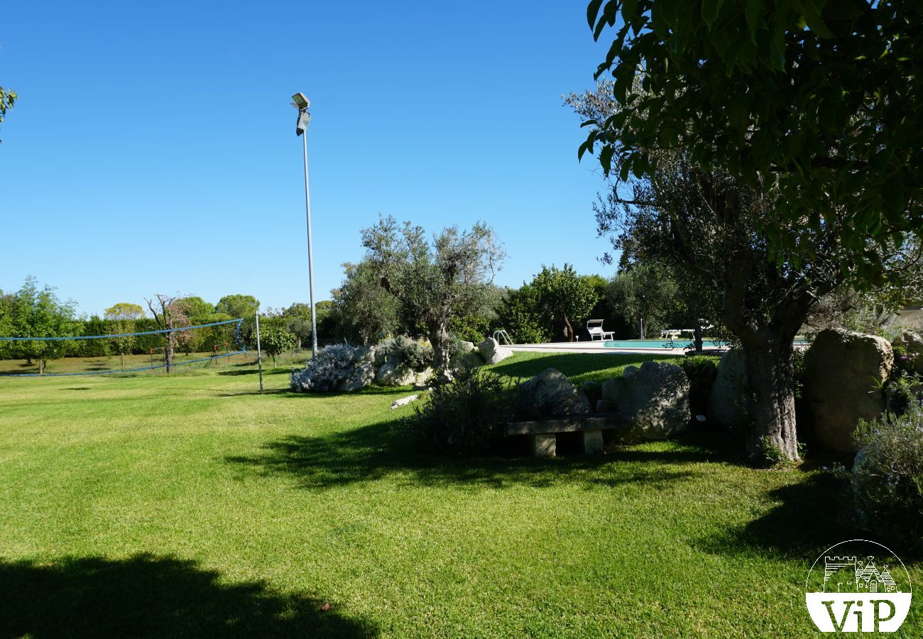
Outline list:
[[[264,585],[225,585],[194,561],[0,561],[0,637],[367,637],[376,629],[324,602]]]

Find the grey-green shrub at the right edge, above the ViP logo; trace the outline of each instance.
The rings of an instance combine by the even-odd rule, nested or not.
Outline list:
[[[858,523],[905,547],[923,549],[923,404],[857,428],[851,474]]]

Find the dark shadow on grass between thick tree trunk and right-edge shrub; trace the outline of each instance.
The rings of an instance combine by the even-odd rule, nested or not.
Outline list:
[[[806,475],[797,484],[776,488],[769,497],[778,501],[771,510],[747,524],[704,537],[696,546],[713,554],[755,551],[786,559],[813,559],[834,543],[861,535],[845,517],[843,483],[834,476]]]

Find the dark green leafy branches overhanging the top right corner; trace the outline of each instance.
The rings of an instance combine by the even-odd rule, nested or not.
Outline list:
[[[606,173],[652,175],[681,150],[773,193],[771,259],[805,266],[801,230],[834,224],[863,281],[923,234],[920,3],[592,0],[587,18],[596,39],[618,24],[596,71],[618,108],[584,121],[580,149]]]

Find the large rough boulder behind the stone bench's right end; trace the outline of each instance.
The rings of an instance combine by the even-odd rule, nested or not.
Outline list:
[[[689,378],[675,364],[626,367],[616,397],[617,411],[629,417],[629,429],[622,433],[627,440],[666,440],[689,429]]]

